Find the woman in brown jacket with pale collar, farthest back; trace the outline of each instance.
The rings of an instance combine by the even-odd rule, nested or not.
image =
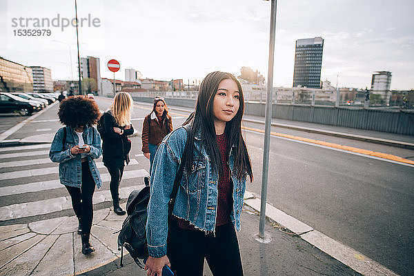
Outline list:
[[[155,97],[152,112],[144,119],[142,126],[142,152],[150,159],[150,173],[155,152],[162,139],[172,131],[172,119],[168,115],[166,101],[164,98]]]

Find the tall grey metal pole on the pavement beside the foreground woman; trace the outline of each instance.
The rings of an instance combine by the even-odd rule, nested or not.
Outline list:
[[[266,124],[264,127],[263,147],[263,169],[262,169],[262,199],[260,202],[259,237],[264,239],[264,223],[266,220],[266,200],[268,186],[268,167],[270,152],[270,124],[272,121],[272,97],[273,97],[273,59],[275,55],[275,32],[276,32],[276,6],[277,0],[271,0],[270,12],[270,39],[269,39],[269,63],[268,63],[268,84],[266,97]]]

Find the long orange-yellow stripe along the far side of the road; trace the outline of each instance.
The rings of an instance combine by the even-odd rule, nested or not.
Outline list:
[[[249,128],[246,126],[242,128],[245,130],[250,130],[251,132],[259,132],[259,133],[264,134],[264,130],[261,130],[259,128]],[[329,143],[326,141],[309,139],[309,138],[304,138],[304,137],[299,137],[299,136],[294,136],[294,135],[287,135],[284,133],[273,132],[273,131],[270,132],[270,134],[273,135],[274,137],[280,137],[282,139],[288,139],[290,141],[299,141],[299,142],[302,142],[303,144],[309,144],[313,146],[316,145],[316,146],[321,146],[322,148],[335,149],[338,151],[348,152],[348,153],[352,153],[352,154],[359,155],[359,156],[369,157],[369,158],[378,159],[382,161],[390,161],[391,163],[400,164],[400,165],[414,166],[414,161],[399,157],[397,155],[391,155],[391,154],[383,153],[383,152],[375,152],[372,150],[364,150],[362,148],[354,148],[351,146],[343,146],[339,144]]]

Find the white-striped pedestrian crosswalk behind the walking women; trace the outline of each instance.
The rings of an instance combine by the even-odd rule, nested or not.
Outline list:
[[[59,181],[59,164],[50,161],[48,148],[50,144],[0,148],[0,201],[10,197],[13,199],[1,204],[0,224],[28,217],[31,221],[37,216],[44,219],[45,215],[47,217],[52,213],[56,217],[56,212],[72,209],[70,196],[66,190],[61,190],[64,186]],[[132,190],[141,188],[144,176],[148,175],[147,170],[139,168],[140,158],[141,162],[145,159],[135,157],[125,168],[119,187],[121,199],[128,198]],[[103,166],[101,158],[96,163],[103,186],[95,190],[93,203],[112,202],[108,170]]]

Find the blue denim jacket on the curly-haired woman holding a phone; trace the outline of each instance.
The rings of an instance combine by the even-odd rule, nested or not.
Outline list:
[[[77,146],[79,138],[75,133],[75,129],[67,126],[66,142],[65,146],[62,148],[63,134],[63,128],[59,128],[53,138],[52,145],[50,146],[49,157],[53,162],[59,162],[59,178],[61,184],[81,188],[81,155],[72,155],[72,153],[70,153],[70,149],[73,146]],[[88,127],[83,130],[82,137],[85,144],[90,146],[90,152],[87,153],[88,164],[92,177],[95,180],[95,184],[98,188],[100,188],[102,180],[99,175],[97,165],[93,159],[99,158],[102,154],[101,136],[99,135],[98,130]]]

